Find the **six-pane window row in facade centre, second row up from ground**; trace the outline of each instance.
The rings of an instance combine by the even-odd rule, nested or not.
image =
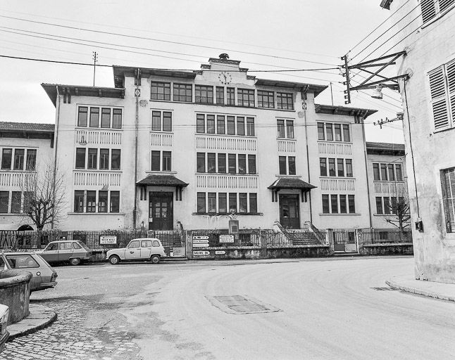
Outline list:
[[[197,153],[197,172],[256,174],[256,155],[227,155],[226,157],[225,153]]]

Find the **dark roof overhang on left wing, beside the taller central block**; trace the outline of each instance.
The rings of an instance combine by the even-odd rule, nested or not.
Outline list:
[[[57,103],[57,94],[66,96],[94,96],[98,98],[124,98],[125,89],[99,86],[77,86],[61,84],[41,84],[54,106]]]

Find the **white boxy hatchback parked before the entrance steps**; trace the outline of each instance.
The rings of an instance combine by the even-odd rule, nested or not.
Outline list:
[[[125,260],[144,259],[158,264],[161,257],[166,257],[166,252],[161,241],[156,238],[132,239],[126,248],[111,249],[106,254],[106,259],[113,265]]]

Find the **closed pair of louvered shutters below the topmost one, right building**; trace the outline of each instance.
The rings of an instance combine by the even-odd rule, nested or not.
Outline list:
[[[435,131],[455,125],[455,61],[428,73]]]

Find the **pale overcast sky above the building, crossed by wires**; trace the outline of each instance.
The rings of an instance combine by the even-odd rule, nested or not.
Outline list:
[[[382,23],[391,13],[379,4],[380,0],[1,1],[0,55],[92,64],[96,51],[98,65],[199,70],[208,58],[228,53],[259,78],[328,85],[316,103],[330,105],[333,98],[334,105],[344,105],[340,57],[349,52],[351,64],[368,60],[399,40],[396,29],[387,34],[392,39],[380,37],[389,28]],[[87,65],[0,57],[0,69],[0,121],[54,123],[55,108],[41,84],[92,86],[94,81],[94,68]],[[276,72],[296,69],[301,71]],[[307,71],[312,69],[330,70]],[[353,82],[360,79],[357,75]],[[113,86],[112,68],[96,67],[95,84]],[[382,129],[373,124],[402,111],[399,94],[383,92],[382,101],[371,98],[371,90],[354,92],[347,106],[378,110],[366,120],[367,141],[402,143],[401,122]]]

